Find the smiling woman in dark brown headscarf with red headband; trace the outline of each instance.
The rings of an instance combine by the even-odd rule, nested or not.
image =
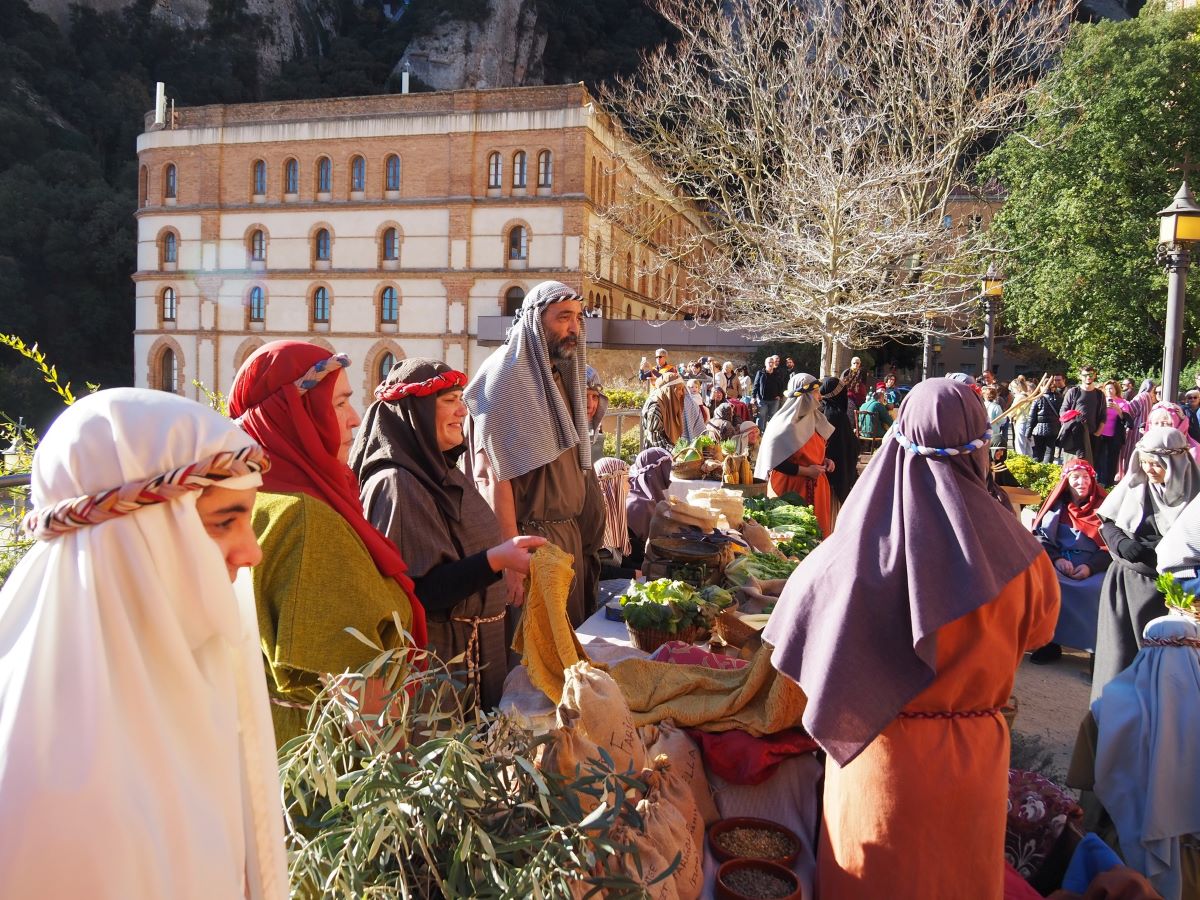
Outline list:
[[[428,649],[467,655],[468,707],[492,709],[508,674],[505,569],[527,575],[545,538],[500,540],[500,526],[473,479],[466,452],[462,389],[467,376],[445,362],[397,362],[350,450],[367,520],[396,545],[425,607]]]

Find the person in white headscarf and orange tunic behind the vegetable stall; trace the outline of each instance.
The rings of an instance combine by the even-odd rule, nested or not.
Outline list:
[[[828,473],[835,464],[826,456],[826,442],[833,426],[821,413],[816,378],[805,373],[793,374],[779,412],[767,422],[762,437],[755,478],[769,481],[772,497],[798,493],[812,506],[821,533],[833,530],[833,493]]]

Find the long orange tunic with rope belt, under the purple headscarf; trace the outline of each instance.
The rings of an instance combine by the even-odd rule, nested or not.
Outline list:
[[[1003,706],[1021,655],[1049,642],[1057,619],[1058,580],[1039,553],[937,632],[937,676],[905,710]],[[1008,751],[996,713],[894,719],[845,768],[827,761],[817,900],[1001,900]]]

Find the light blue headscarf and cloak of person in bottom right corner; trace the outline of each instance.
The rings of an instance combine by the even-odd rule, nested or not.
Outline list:
[[[1164,616],[1142,637],[1134,661],[1092,703],[1096,796],[1126,863],[1165,900],[1181,900],[1180,838],[1200,833],[1200,625]],[[1182,646],[1153,643],[1171,641]]]

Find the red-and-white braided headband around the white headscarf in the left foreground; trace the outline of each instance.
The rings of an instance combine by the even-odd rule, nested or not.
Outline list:
[[[188,466],[130,481],[120,487],[84,497],[68,497],[25,516],[22,527],[37,540],[50,540],[89,524],[136,512],[143,506],[174,500],[191,491],[203,491],[232,478],[266,472],[271,462],[258,444],[214,454]]]

